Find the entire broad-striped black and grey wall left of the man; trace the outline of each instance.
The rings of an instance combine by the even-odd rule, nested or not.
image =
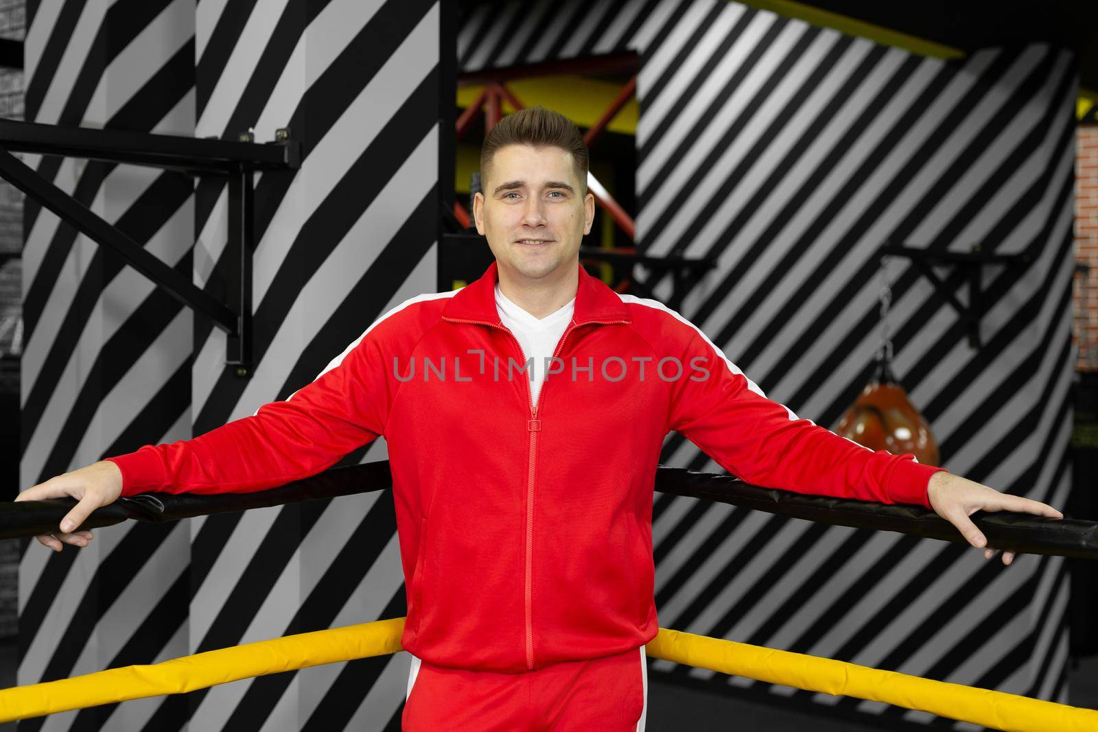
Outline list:
[[[285,398],[434,288],[438,181],[452,179],[450,13],[438,0],[31,3],[27,120],[233,139],[250,128],[258,142],[288,127],[303,164],[256,178],[249,379],[226,369],[220,330],[29,204],[24,486]],[[31,162],[227,296],[223,180]],[[348,460],[383,458],[378,440]],[[405,611],[388,494],[97,533],[80,552],[25,549],[20,684]],[[397,654],[20,729],[382,729],[399,725],[406,675]]]

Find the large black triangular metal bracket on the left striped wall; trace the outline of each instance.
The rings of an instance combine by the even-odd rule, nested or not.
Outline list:
[[[236,282],[228,304],[221,303],[190,278],[145,250],[71,195],[46,180],[12,153],[37,153],[138,165],[192,176],[228,179],[228,277]],[[124,129],[63,127],[0,120],[0,178],[23,191],[96,244],[164,288],[176,300],[206,317],[227,335],[225,361],[245,376],[251,367],[251,252],[255,248],[253,174],[257,170],[301,167],[301,145],[279,129],[271,143],[199,139]]]

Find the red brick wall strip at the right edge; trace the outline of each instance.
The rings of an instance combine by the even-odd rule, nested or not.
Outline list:
[[[1079,371],[1098,371],[1098,125],[1079,125],[1075,165],[1075,340]]]

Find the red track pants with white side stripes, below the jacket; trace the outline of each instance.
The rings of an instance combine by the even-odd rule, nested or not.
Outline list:
[[[404,732],[643,732],[645,646],[519,674],[447,668],[412,656]]]

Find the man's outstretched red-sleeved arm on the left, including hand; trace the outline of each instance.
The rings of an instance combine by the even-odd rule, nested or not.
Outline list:
[[[386,331],[394,326],[384,319],[284,402],[265,404],[249,417],[190,440],[146,444],[54,476],[15,500],[78,500],[58,532],[37,537],[60,551],[63,543],[87,545],[91,532],[74,529],[119,496],[153,491],[246,493],[315,475],[384,432],[394,388],[383,365],[383,352],[393,347]]]

